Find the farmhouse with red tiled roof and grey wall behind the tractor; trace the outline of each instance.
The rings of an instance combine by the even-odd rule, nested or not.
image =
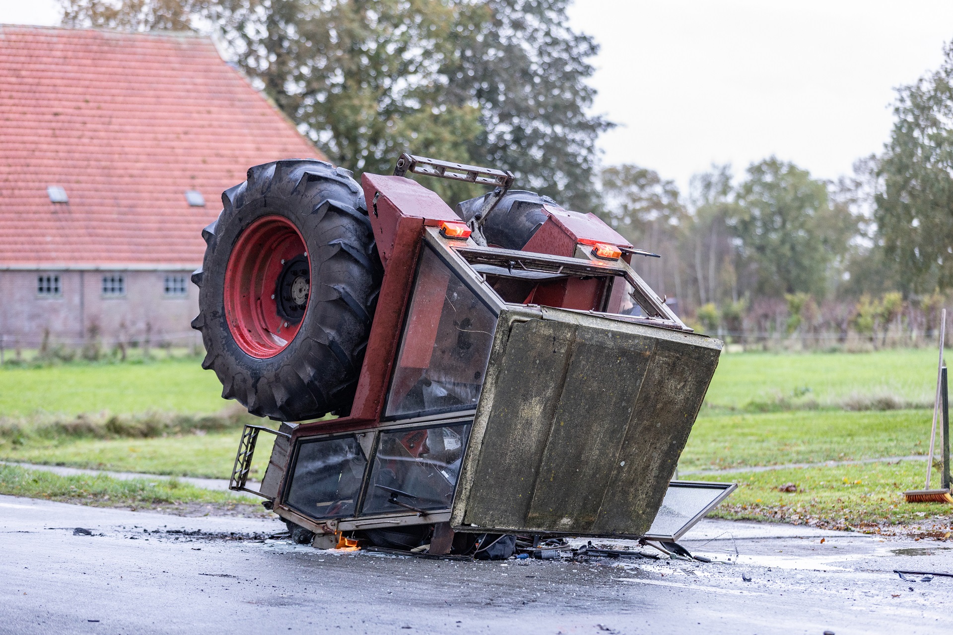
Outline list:
[[[291,157],[323,158],[206,37],[0,26],[3,346],[200,342],[201,229]]]

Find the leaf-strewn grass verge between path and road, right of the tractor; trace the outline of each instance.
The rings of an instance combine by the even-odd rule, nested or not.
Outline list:
[[[733,473],[702,479],[739,484],[710,516],[847,529],[913,524],[949,513],[949,505],[903,502],[904,489],[923,487],[925,468],[921,461],[902,461]],[[798,491],[779,490],[788,484],[797,486]]]

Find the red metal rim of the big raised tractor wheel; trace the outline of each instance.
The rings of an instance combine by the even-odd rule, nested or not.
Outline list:
[[[298,273],[305,271],[295,283],[296,297],[305,289],[302,307],[306,307],[311,291],[311,260],[301,233],[287,218],[259,218],[238,236],[229,256],[225,270],[225,319],[238,347],[257,359],[274,357],[287,348],[304,322],[307,308],[300,309],[295,323],[287,310],[282,314],[287,305],[279,308],[282,298],[275,295],[280,292],[279,278],[287,277],[293,261],[300,263]],[[284,298],[287,300],[288,296]]]

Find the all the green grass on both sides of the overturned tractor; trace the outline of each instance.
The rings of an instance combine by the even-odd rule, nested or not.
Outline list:
[[[679,467],[771,466],[923,454],[928,442],[929,410],[882,408],[930,404],[935,356],[935,351],[928,349],[722,355],[706,407]],[[140,421],[148,419],[150,415],[145,413],[150,412],[219,412],[234,404],[222,400],[220,391],[214,374],[202,370],[194,357],[146,363],[3,367],[0,428],[5,418],[8,423],[19,418],[17,426],[40,429],[42,425],[47,432],[4,437],[0,429],[0,459],[227,478],[238,443],[237,420],[227,420],[233,423],[225,429],[212,427],[208,431],[198,424],[178,426],[173,422],[172,427],[151,428]],[[846,411],[844,407],[862,411]],[[111,427],[103,423],[107,415],[99,414],[95,434],[86,434],[83,430],[87,427],[74,425],[85,421],[77,415],[103,411],[129,417],[132,423]],[[162,416],[169,420],[168,414]],[[51,427],[51,417],[62,417],[65,423],[56,420]],[[77,429],[79,432],[75,432]],[[73,432],[51,434],[50,430]],[[269,435],[261,437],[253,477],[262,475],[271,441]],[[907,506],[900,502],[903,489],[923,486],[923,466],[923,462],[881,463],[703,478],[743,484],[716,512],[724,517],[860,526],[911,522],[920,518],[918,513],[946,513],[945,506]],[[89,500],[96,505],[108,504],[104,496],[110,501],[121,499],[123,505],[150,496],[162,501],[172,497],[160,491],[140,498],[136,498],[138,494],[124,494],[123,498],[118,493],[105,493],[113,485],[56,485],[52,477],[49,481],[34,479],[27,485],[23,485],[22,476],[8,482],[13,475],[0,472],[0,492]],[[778,486],[792,482],[800,484],[798,493],[778,491]],[[70,498],[75,491],[69,487],[100,493],[84,495],[85,499]],[[199,494],[194,496],[200,498]]]

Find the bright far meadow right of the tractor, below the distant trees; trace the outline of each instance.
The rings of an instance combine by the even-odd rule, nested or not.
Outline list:
[[[932,407],[937,351],[722,353],[707,407],[867,406],[878,399]]]

